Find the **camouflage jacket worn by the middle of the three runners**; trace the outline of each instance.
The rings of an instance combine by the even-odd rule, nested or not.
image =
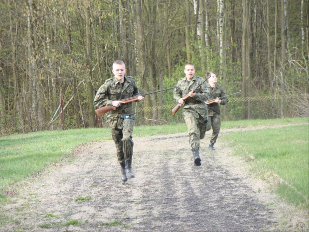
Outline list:
[[[174,89],[174,99],[178,100],[185,97],[192,89],[196,88],[204,81],[199,76],[193,76],[191,81],[187,81],[186,77],[181,78],[177,83],[177,88]],[[192,113],[199,113],[202,117],[207,117],[207,105],[205,101],[210,98],[209,88],[206,82],[195,90],[195,96],[189,97],[183,105],[184,111],[191,111]]]

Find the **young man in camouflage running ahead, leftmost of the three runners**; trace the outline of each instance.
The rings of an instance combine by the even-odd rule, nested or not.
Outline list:
[[[98,107],[115,106],[117,110],[109,111],[108,123],[111,128],[112,138],[117,149],[117,158],[121,166],[121,179],[127,181],[134,178],[132,171],[133,140],[132,133],[135,122],[133,103],[121,104],[119,101],[129,97],[138,96],[139,101],[144,100],[139,96],[139,89],[132,76],[125,76],[126,65],[121,60],[113,63],[114,77],[105,81],[99,88],[94,105]]]

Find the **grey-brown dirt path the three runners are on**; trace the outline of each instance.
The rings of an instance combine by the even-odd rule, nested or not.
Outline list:
[[[3,209],[12,221],[0,231],[308,231],[308,215],[297,214],[270,194],[267,183],[250,177],[220,138],[213,152],[209,133],[202,140],[199,167],[186,133],[134,142],[135,179],[122,184],[113,141],[83,145],[74,162],[24,185]],[[64,226],[70,220],[80,225]]]

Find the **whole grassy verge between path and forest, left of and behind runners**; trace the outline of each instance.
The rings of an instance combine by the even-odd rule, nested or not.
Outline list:
[[[222,129],[299,122],[308,122],[308,118],[223,122]],[[135,127],[133,136],[146,137],[183,132],[187,132],[185,124],[142,126]],[[76,146],[104,139],[111,140],[109,129],[41,131],[0,136],[0,199],[15,193],[12,184],[41,172],[49,165],[61,163],[61,158],[70,156],[72,151],[77,149]]]

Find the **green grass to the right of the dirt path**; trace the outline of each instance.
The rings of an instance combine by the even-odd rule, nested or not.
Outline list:
[[[274,181],[276,191],[288,203],[309,208],[309,126],[294,125],[263,130],[233,132],[223,138],[235,153],[248,159],[251,171]]]

